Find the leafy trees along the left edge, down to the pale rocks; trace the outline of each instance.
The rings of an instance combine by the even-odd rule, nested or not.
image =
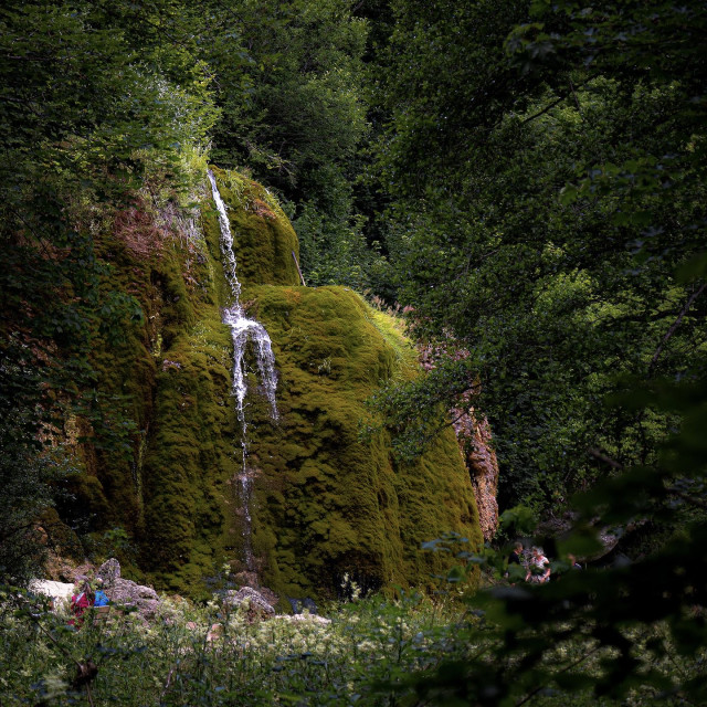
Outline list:
[[[6,2],[0,9],[0,574],[23,576],[28,524],[49,503],[51,461],[38,433],[70,407],[106,444],[89,352],[139,320],[107,286],[93,233],[156,171],[177,173],[214,110],[203,67],[170,28],[170,0]],[[18,552],[18,550],[21,550]]]

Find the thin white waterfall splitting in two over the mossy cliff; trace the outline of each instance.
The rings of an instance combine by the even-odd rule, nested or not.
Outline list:
[[[213,172],[209,170],[209,181],[211,182],[211,192],[213,201],[219,212],[219,225],[221,229],[221,256],[223,260],[223,272],[225,274],[229,288],[231,289],[231,300],[223,309],[221,320],[231,329],[231,338],[233,340],[233,382],[231,393],[235,398],[235,411],[241,424],[241,471],[238,474],[239,496],[243,507],[243,552],[245,567],[247,570],[255,569],[252,547],[252,518],[251,518],[251,500],[253,496],[253,469],[247,466],[247,422],[245,420],[245,393],[247,392],[246,373],[245,373],[245,349],[249,341],[252,342],[252,349],[255,354],[255,361],[260,373],[262,391],[270,403],[270,413],[272,420],[277,420],[277,401],[275,399],[275,390],[277,388],[277,373],[275,371],[275,357],[271,346],[270,336],[265,327],[249,319],[243,314],[241,307],[241,283],[235,274],[235,255],[233,254],[233,235],[231,225],[226,214],[225,203],[219,193],[217,180]]]

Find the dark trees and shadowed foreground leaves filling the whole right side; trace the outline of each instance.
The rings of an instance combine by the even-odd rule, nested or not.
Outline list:
[[[481,372],[506,500],[591,486],[553,555],[591,556],[598,527],[664,529],[634,563],[477,598],[487,623],[466,639],[483,650],[404,682],[433,704],[588,689],[704,704],[707,8],[534,2],[513,6],[520,18],[502,36],[497,18],[475,23],[492,3],[397,7],[393,120],[379,155],[390,193],[405,194],[390,247],[415,326],[466,349],[463,366]],[[472,17],[475,33],[460,38]],[[404,93],[408,71],[433,85],[407,48],[431,53],[435,36],[468,41],[469,63],[437,52],[434,98]],[[479,41],[495,48],[488,67],[474,63]],[[489,73],[511,86],[476,113]],[[464,105],[468,124],[447,131]],[[428,134],[437,151],[409,149]],[[430,399],[458,393],[440,380]],[[500,553],[461,557],[503,571]]]

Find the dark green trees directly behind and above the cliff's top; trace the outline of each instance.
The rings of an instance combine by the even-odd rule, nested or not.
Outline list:
[[[362,287],[372,260],[352,204],[368,32],[354,4],[239,0],[194,18],[222,108],[213,160],[246,167],[286,200],[314,285]]]

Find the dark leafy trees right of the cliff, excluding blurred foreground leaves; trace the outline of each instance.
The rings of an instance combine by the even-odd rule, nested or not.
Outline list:
[[[393,4],[378,158],[400,298],[473,359],[502,502],[566,500],[599,457],[651,462],[674,421],[608,408],[619,373],[704,363],[704,7]]]

